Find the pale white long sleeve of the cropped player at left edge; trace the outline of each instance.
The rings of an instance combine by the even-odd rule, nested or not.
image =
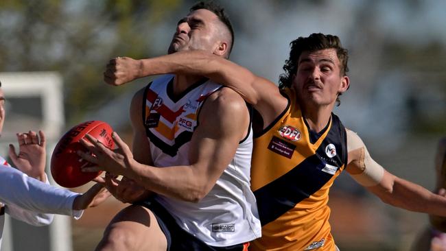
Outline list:
[[[5,213],[33,225],[51,223],[54,215],[80,216],[73,212],[78,193],[30,178],[12,167],[0,166],[0,202]]]

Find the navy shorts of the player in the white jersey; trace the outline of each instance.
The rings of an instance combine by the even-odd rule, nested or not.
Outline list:
[[[155,200],[138,202],[137,205],[149,208],[155,215],[161,230],[167,239],[167,251],[246,251],[249,243],[241,243],[229,247],[209,246],[197,237],[178,226],[165,208]],[[173,237],[173,238],[172,238]]]

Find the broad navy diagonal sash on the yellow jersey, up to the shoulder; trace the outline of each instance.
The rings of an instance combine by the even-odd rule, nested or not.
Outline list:
[[[254,191],[262,226],[274,221],[294,208],[298,202],[319,191],[333,177],[333,174],[322,171],[327,164],[338,167],[337,171],[342,171],[340,168],[347,161],[347,132],[338,117],[336,115],[332,117],[331,128],[316,150],[316,154],[307,157],[277,180]],[[336,148],[336,156],[331,158],[326,153],[329,144],[333,144]]]

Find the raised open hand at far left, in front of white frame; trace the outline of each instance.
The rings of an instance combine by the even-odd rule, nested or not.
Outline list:
[[[19,154],[16,154],[14,145],[10,145],[9,155],[20,171],[33,178],[45,177],[45,161],[47,158],[45,134],[42,131],[18,133]],[[43,180],[45,181],[45,180]]]

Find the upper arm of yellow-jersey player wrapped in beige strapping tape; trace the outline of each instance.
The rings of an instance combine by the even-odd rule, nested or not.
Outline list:
[[[384,168],[373,160],[360,136],[347,129],[347,150],[355,156],[347,167],[347,171],[356,182],[364,187],[373,187],[381,182]]]

